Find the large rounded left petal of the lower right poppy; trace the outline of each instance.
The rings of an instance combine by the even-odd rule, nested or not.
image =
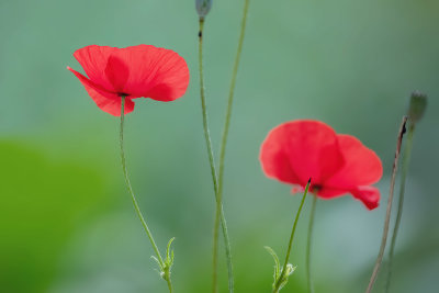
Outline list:
[[[337,135],[328,125],[292,121],[273,128],[262,144],[260,159],[267,176],[289,183],[323,183],[344,165]]]

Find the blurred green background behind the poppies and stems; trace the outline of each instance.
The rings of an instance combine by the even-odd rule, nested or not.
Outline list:
[[[201,124],[194,1],[0,2],[0,291],[167,292],[125,190],[119,120],[100,111],[66,66],[90,44],[153,44],[191,70],[172,103],[139,99],[126,151],[140,206],[161,248],[176,237],[176,292],[210,292],[214,200]],[[244,1],[215,1],[205,25],[210,122],[217,151]],[[319,201],[316,292],[363,292],[381,239],[396,131],[413,90],[429,94],[415,133],[393,292],[438,292],[439,2],[250,3],[226,158],[224,205],[236,292],[270,292],[300,196],[267,179],[259,146],[273,126],[318,119],[382,158],[380,209]],[[282,292],[306,292],[309,201]],[[223,256],[223,250],[221,250]],[[226,292],[222,258],[221,286]],[[385,267],[382,272],[385,272]],[[375,291],[382,291],[382,279]]]

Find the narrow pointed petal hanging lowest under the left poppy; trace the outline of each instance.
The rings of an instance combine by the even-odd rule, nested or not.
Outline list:
[[[81,81],[82,86],[86,88],[87,92],[93,99],[95,104],[104,112],[110,113],[114,116],[121,115],[121,97],[113,92],[108,92],[102,89],[99,84],[94,83],[93,81],[89,80],[83,75],[79,74],[78,71],[67,67],[75,76]],[[127,114],[133,112],[134,110],[134,102],[131,99],[125,99],[125,109],[124,113]]]

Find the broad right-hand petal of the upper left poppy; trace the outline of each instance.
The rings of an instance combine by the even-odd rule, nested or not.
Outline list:
[[[176,52],[151,45],[126,47],[115,53],[130,68],[123,92],[131,98],[173,101],[184,94],[189,84],[189,68]]]

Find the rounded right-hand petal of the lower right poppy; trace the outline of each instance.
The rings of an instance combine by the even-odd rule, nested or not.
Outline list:
[[[353,136],[339,134],[337,137],[345,165],[324,184],[351,189],[376,183],[383,174],[383,166],[376,154]]]

